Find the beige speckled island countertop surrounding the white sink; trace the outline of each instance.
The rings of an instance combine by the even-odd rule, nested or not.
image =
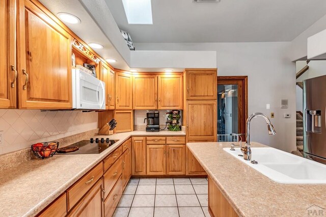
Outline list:
[[[231,143],[187,143],[239,216],[307,216],[323,209],[326,184],[281,184],[223,150]],[[266,147],[252,142],[253,147]],[[312,215],[312,213],[310,213]]]

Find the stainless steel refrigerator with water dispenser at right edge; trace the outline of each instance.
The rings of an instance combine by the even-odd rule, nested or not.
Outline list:
[[[304,157],[326,164],[326,75],[303,83]]]

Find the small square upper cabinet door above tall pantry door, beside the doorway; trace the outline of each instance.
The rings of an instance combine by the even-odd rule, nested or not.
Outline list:
[[[218,73],[216,70],[186,71],[186,99],[217,99]]]

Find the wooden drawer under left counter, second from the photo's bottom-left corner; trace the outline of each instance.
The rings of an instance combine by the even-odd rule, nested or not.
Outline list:
[[[95,182],[103,175],[103,163],[100,162],[85,176],[75,182],[67,191],[68,210],[71,209],[83,195],[95,184]]]

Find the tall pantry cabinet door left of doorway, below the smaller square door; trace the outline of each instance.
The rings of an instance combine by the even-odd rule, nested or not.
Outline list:
[[[216,100],[187,100],[186,137],[188,141],[216,141]]]

